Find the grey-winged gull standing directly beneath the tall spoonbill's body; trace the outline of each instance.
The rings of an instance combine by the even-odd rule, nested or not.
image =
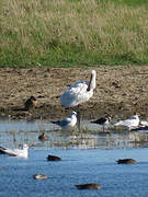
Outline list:
[[[77,124],[77,113],[72,112],[70,114],[70,117],[65,117],[61,120],[58,121],[52,121],[55,125],[58,125],[59,127],[61,127],[62,129],[70,129],[71,127],[75,127],[75,125]]]

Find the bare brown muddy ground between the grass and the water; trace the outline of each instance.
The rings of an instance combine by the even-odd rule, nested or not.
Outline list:
[[[0,114],[27,119],[65,117],[71,109],[60,105],[59,96],[75,81],[89,80],[91,69],[0,69]],[[141,118],[148,117],[148,66],[93,69],[96,70],[96,89],[93,97],[81,105],[83,118],[107,114],[128,117],[135,113]],[[24,111],[31,95],[38,105]]]

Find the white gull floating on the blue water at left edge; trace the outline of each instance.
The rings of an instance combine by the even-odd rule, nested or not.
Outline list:
[[[0,147],[0,152],[12,155],[12,157],[27,158],[29,157],[29,146],[24,144],[23,149],[9,149],[9,148]]]

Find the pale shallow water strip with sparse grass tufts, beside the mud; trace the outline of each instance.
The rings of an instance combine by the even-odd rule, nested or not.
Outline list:
[[[38,140],[38,136],[43,132],[49,137],[49,140]],[[49,121],[0,120],[0,144],[13,148],[23,143],[32,147],[64,149],[146,148],[148,147],[148,130],[128,132],[127,130],[116,131],[113,128],[105,128],[105,132],[103,132],[101,126],[83,120],[81,132],[79,132],[77,129],[61,130]]]

